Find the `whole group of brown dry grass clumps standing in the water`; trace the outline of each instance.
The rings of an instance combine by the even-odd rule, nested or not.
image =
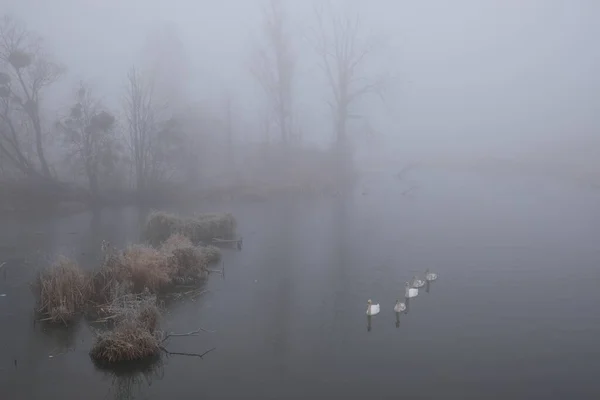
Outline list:
[[[235,227],[229,214],[204,215],[192,223],[178,221],[183,221],[178,229],[189,229],[191,237],[208,235],[206,232],[232,232]],[[132,245],[117,251],[106,242],[102,248],[103,262],[89,274],[65,257],[43,270],[35,285],[39,311],[47,320],[67,325],[87,308],[88,316],[109,323],[112,328],[98,334],[90,351],[97,363],[158,356],[161,350],[166,351],[161,343],[169,335],[157,330],[160,311],[156,296],[175,285],[198,283],[206,278],[208,266],[220,259],[221,251],[214,246],[194,245],[181,232],[170,234],[156,248]]]

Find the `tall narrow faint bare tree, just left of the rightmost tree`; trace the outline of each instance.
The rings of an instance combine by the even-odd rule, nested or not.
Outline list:
[[[265,43],[257,46],[251,72],[264,90],[281,140],[292,136],[292,96],[295,59],[282,0],[269,0],[263,9]]]

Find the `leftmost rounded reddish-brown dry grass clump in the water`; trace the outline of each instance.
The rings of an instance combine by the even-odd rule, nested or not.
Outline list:
[[[88,285],[79,265],[59,257],[49,268],[40,272],[36,285],[39,311],[52,322],[70,322],[84,307]]]

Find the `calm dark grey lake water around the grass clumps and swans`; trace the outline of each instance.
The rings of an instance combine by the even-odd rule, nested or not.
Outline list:
[[[0,398],[600,398],[600,192],[536,177],[409,180],[405,195],[411,184],[381,175],[346,198],[198,207],[234,212],[244,248],[163,328],[215,330],[169,347],[216,350],[118,373],[91,363],[87,325],[34,326],[28,284],[57,253],[93,265],[102,239],[137,241],[146,211],[4,221]],[[395,300],[426,268],[440,279],[397,326]],[[382,307],[370,330],[369,298]]]

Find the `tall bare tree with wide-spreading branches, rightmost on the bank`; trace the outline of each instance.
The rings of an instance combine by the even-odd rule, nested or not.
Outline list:
[[[327,5],[325,11],[323,7],[315,8],[314,47],[331,91],[332,99],[327,103],[333,114],[336,143],[344,147],[354,103],[365,96],[383,93],[385,79],[370,77],[365,72],[367,61],[383,42],[378,36],[363,34],[358,14],[336,14],[331,4]]]

